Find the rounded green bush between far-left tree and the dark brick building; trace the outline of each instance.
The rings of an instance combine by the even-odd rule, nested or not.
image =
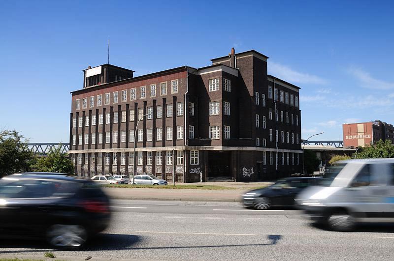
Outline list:
[[[38,159],[34,171],[73,174],[74,165],[68,158],[68,154],[62,152],[60,144],[58,147],[53,147],[46,157]]]

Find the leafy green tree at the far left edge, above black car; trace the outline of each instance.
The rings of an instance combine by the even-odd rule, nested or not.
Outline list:
[[[29,150],[28,142],[15,130],[0,131],[0,177],[32,170],[36,158]]]

